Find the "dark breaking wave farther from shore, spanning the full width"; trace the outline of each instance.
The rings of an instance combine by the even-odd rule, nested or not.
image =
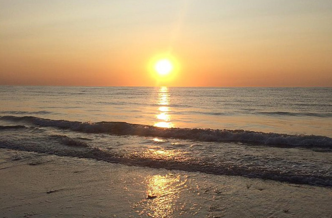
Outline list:
[[[317,135],[289,135],[264,133],[248,130],[162,128],[126,122],[78,122],[52,120],[34,116],[1,116],[2,120],[29,122],[39,126],[57,127],[86,133],[109,133],[117,135],[137,135],[164,138],[179,138],[200,141],[244,142],[260,145],[318,147],[332,149],[332,138]]]

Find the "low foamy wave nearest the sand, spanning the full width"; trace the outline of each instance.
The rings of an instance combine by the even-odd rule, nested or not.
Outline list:
[[[138,155],[124,155],[99,147],[90,147],[87,143],[78,139],[73,139],[63,135],[48,136],[53,140],[51,146],[44,146],[41,142],[34,145],[27,143],[10,143],[8,141],[0,142],[0,147],[8,149],[17,149],[25,151],[34,151],[39,153],[55,154],[59,156],[71,156],[79,158],[90,158],[112,163],[120,163],[131,166],[144,166],[152,168],[164,168],[182,171],[197,171],[211,173],[216,175],[245,176],[249,178],[269,179],[281,182],[332,186],[332,176],[318,173],[301,173],[292,171],[283,171],[283,169],[267,169],[264,167],[250,167],[246,165],[233,165],[224,162],[206,163],[190,159],[172,160],[172,159],[152,159]],[[62,149],[54,146],[54,142],[60,142],[68,146],[68,149]],[[77,148],[82,150],[77,150]]]

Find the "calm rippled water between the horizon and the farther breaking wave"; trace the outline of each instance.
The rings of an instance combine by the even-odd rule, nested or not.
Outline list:
[[[332,136],[332,88],[0,86],[0,115]]]

